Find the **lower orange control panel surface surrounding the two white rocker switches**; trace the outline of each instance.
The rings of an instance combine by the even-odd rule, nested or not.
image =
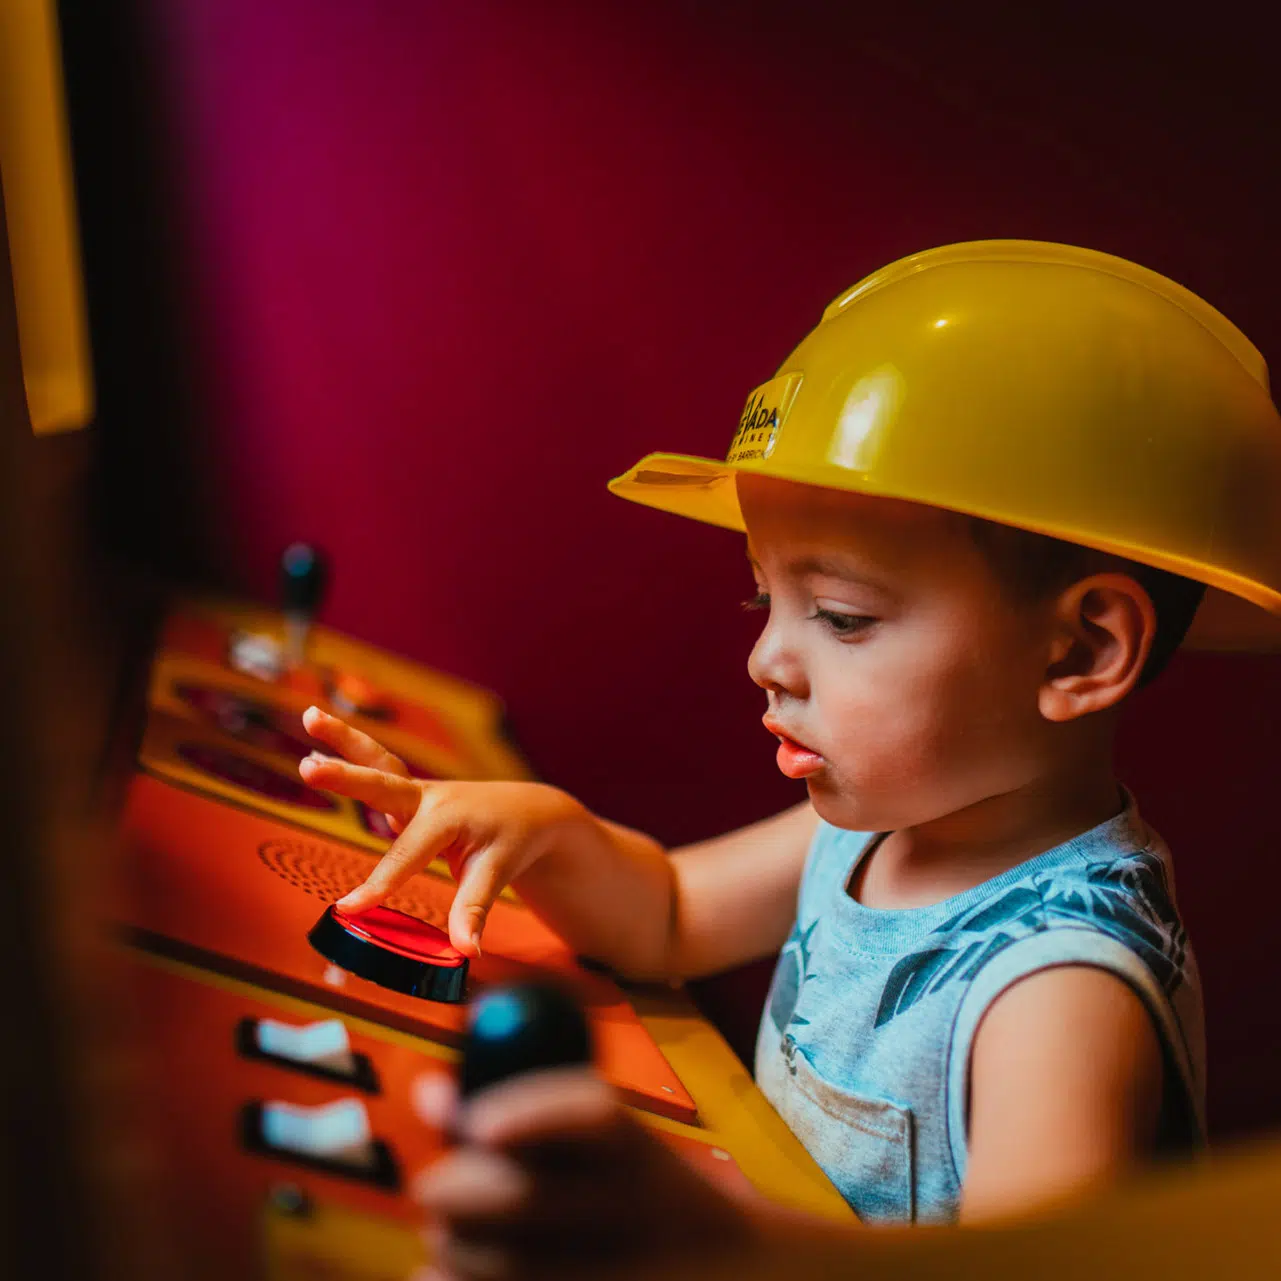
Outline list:
[[[165,1211],[178,1239],[200,1259],[201,1277],[251,1277],[263,1267],[260,1240],[264,1212],[273,1187],[292,1185],[322,1211],[328,1223],[309,1248],[306,1220],[291,1226],[292,1253],[333,1269],[341,1261],[356,1264],[324,1275],[365,1276],[361,1255],[386,1250],[388,1230],[397,1225],[411,1232],[421,1212],[407,1195],[412,1176],[443,1150],[441,1135],[428,1129],[410,1106],[412,1081],[423,1073],[453,1072],[445,1052],[432,1053],[370,1030],[348,1026],[351,1047],[374,1066],[379,1091],[369,1094],[341,1082],[325,1081],[284,1065],[246,1058],[237,1048],[237,1025],[243,1018],[279,1018],[292,1025],[325,1017],[315,1009],[301,1013],[281,1008],[281,998],[260,989],[225,986],[213,975],[168,967],[138,957],[127,962],[131,1007],[137,1022],[137,1043],[150,1059],[145,1073],[146,1130],[159,1148],[159,1161],[169,1204]],[[287,1159],[249,1152],[238,1136],[238,1117],[251,1102],[283,1100],[314,1107],[339,1098],[359,1098],[369,1112],[374,1136],[392,1152],[401,1189],[391,1191],[343,1179]],[[748,1186],[733,1157],[724,1149],[688,1135],[658,1131],[696,1168],[726,1187]],[[364,1221],[361,1221],[364,1217]],[[383,1222],[386,1228],[370,1234]],[[270,1243],[266,1243],[270,1246]],[[269,1249],[270,1253],[270,1249]],[[412,1254],[402,1245],[398,1254]],[[279,1261],[277,1261],[279,1262]],[[369,1258],[370,1276],[380,1276],[377,1258]]]

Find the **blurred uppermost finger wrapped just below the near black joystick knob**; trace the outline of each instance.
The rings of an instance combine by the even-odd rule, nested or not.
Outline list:
[[[462,1109],[462,1132],[492,1148],[614,1134],[624,1113],[589,1067],[550,1067],[491,1086]]]

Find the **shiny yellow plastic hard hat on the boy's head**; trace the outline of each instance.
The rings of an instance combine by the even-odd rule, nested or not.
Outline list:
[[[743,529],[738,473],[949,507],[1198,579],[1240,598],[1198,617],[1217,647],[1272,639],[1243,601],[1281,614],[1267,365],[1209,304],[1108,254],[976,241],[893,263],[751,393],[724,462],[651,453],[610,489]]]

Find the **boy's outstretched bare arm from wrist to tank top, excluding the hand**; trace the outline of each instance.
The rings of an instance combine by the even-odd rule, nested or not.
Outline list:
[[[575,951],[626,977],[698,977],[783,945],[817,821],[803,802],[669,852],[592,816],[515,886]],[[464,872],[459,897],[470,893]]]

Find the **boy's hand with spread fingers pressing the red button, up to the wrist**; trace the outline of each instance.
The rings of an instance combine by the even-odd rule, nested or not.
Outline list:
[[[443,858],[459,883],[450,942],[480,954],[485,917],[503,886],[547,853],[551,839],[587,817],[571,797],[541,783],[464,783],[410,778],[405,762],[337,716],[309,707],[307,733],[346,760],[314,753],[298,765],[314,788],[382,810],[398,833],[364,885],[339,901],[364,912]]]

